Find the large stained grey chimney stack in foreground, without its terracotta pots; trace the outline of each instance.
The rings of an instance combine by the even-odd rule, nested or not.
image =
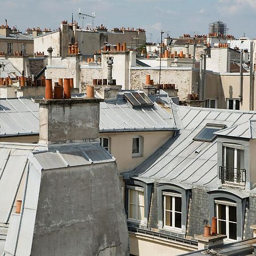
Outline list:
[[[36,100],[39,103],[39,143],[94,142],[99,137],[100,99]]]

